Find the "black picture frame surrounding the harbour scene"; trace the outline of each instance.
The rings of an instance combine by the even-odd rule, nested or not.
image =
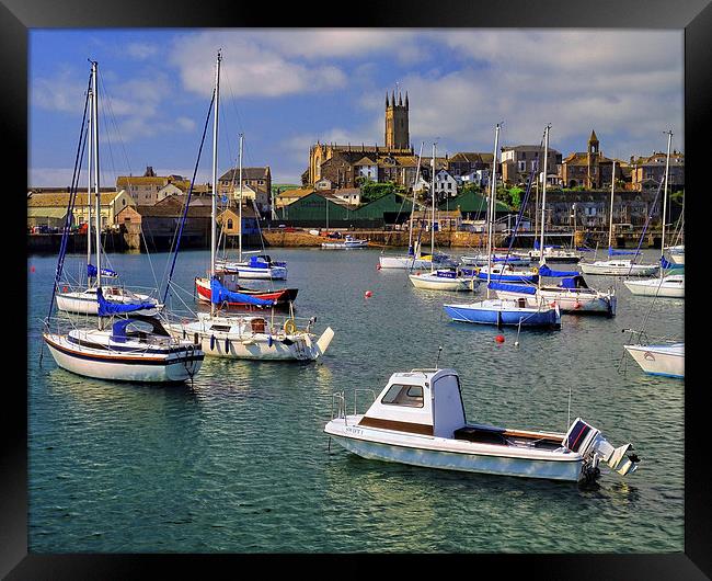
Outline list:
[[[321,8],[320,8],[321,7]],[[343,4],[344,10],[331,10],[334,4],[254,4],[246,2],[188,2],[186,0],[153,0],[139,2],[124,0],[96,4],[89,0],[2,0],[0,3],[0,70],[3,72],[0,104],[5,143],[3,169],[10,187],[5,201],[10,210],[2,220],[4,261],[12,259],[11,282],[4,285],[14,289],[11,308],[3,309],[9,329],[26,326],[26,297],[21,297],[21,283],[26,283],[25,257],[14,250],[19,240],[26,240],[26,202],[22,198],[27,185],[23,167],[27,159],[27,32],[44,27],[605,27],[605,29],[658,29],[685,30],[685,148],[686,180],[692,197],[686,212],[686,238],[691,253],[690,283],[687,285],[687,305],[704,305],[701,297],[701,272],[694,264],[701,263],[700,246],[707,194],[704,175],[709,175],[709,161],[704,156],[712,140],[712,4],[710,0],[598,0],[579,3],[565,0],[509,0],[502,3],[464,2],[441,0],[426,3],[422,0],[404,2],[358,2]],[[340,15],[337,15],[340,14]],[[9,138],[9,139],[8,139]],[[15,171],[16,170],[16,171]],[[689,212],[689,209],[692,212]],[[698,260],[700,259],[700,260]],[[688,260],[688,262],[690,262]],[[697,281],[697,282],[696,282]],[[25,284],[26,286],[26,284]],[[8,300],[7,294],[5,300]],[[701,300],[701,299],[700,299]],[[24,301],[24,303],[23,303]],[[20,304],[25,308],[20,308]],[[9,305],[9,304],[7,304]],[[694,311],[693,311],[694,312]],[[686,312],[687,314],[687,312]],[[687,318],[686,318],[687,321]],[[696,356],[700,348],[696,341],[694,327],[704,331],[704,322],[690,321],[691,340],[685,389],[685,551],[679,554],[635,555],[468,555],[462,558],[468,574],[479,572],[481,567],[496,570],[497,577],[515,572],[541,579],[707,579],[712,576],[712,525],[711,502],[708,497],[710,482],[709,454],[705,449],[707,428],[710,424],[709,407],[705,406],[707,381],[698,383]],[[0,574],[7,579],[127,579],[179,571],[183,574],[217,576],[226,571],[231,577],[241,574],[234,569],[232,557],[225,555],[28,555],[27,554],[27,398],[22,389],[22,376],[10,375],[20,368],[20,361],[27,358],[24,342],[16,341],[15,331],[8,332],[4,340],[5,381],[0,430],[2,431],[0,456],[1,492],[0,509]],[[13,340],[14,338],[14,340]],[[689,353],[688,353],[689,354]],[[691,362],[691,363],[690,363]],[[11,379],[10,377],[14,377]],[[26,384],[26,375],[24,376]],[[703,376],[702,376],[703,377]],[[690,388],[687,388],[690,386]],[[664,430],[664,426],[661,426]],[[581,523],[585,534],[586,524]],[[596,548],[592,547],[592,551]],[[239,556],[244,559],[244,556]],[[299,562],[300,557],[292,556]],[[323,556],[329,557],[329,556]],[[330,559],[334,568],[320,565],[323,574],[354,572],[341,560]],[[371,558],[372,556],[364,556]],[[398,557],[398,556],[397,556]],[[401,556],[402,557],[402,556]],[[437,561],[441,557],[428,556]],[[282,559],[273,556],[254,556],[260,573],[280,567]],[[420,567],[422,558],[397,559],[399,567],[412,570]],[[313,561],[303,560],[313,569]],[[209,567],[209,569],[206,569]],[[493,569],[490,569],[493,568]],[[448,569],[451,570],[451,569]],[[249,573],[248,573],[249,574]],[[460,574],[460,573],[458,573]]]

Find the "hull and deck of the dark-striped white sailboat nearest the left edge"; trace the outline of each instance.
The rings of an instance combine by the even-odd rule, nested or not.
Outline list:
[[[205,357],[199,345],[173,339],[157,319],[136,316],[105,330],[62,333],[47,328],[43,339],[60,367],[117,381],[185,381],[198,373]]]

